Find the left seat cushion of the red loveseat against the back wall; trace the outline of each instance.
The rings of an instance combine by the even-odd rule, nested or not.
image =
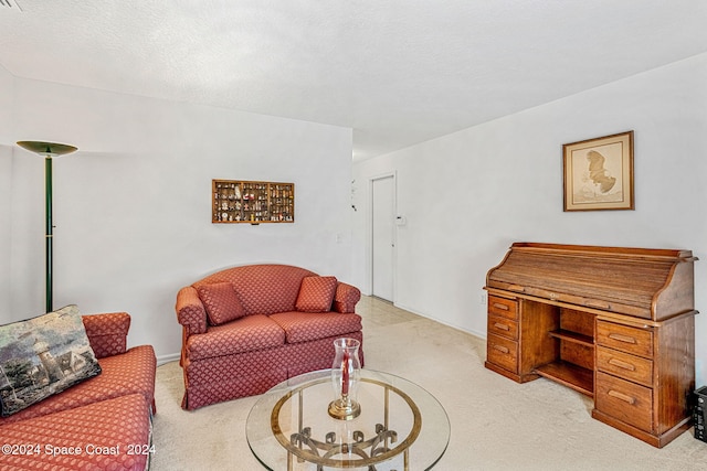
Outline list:
[[[187,354],[191,361],[271,349],[285,343],[285,332],[267,315],[252,314],[223,325],[210,327],[207,333],[191,335]]]

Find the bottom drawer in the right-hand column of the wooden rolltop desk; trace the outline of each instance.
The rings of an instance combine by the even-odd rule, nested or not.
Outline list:
[[[597,372],[594,407],[644,431],[653,431],[653,390]]]

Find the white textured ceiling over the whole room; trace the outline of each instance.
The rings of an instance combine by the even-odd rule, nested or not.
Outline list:
[[[704,0],[12,0],[0,64],[350,127],[368,158],[706,52],[706,24]]]

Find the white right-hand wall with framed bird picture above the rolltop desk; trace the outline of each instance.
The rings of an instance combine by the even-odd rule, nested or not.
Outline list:
[[[395,303],[485,336],[486,271],[513,242],[687,248],[707,314],[707,54],[354,165],[354,282],[370,290],[372,176],[395,172]],[[479,105],[483,106],[483,105]],[[562,143],[635,131],[635,211],[562,212]],[[707,382],[707,318],[696,319]]]

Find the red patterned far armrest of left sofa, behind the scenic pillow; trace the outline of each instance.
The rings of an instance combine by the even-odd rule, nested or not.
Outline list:
[[[130,314],[108,312],[82,315],[86,336],[97,358],[119,355],[127,351]]]

